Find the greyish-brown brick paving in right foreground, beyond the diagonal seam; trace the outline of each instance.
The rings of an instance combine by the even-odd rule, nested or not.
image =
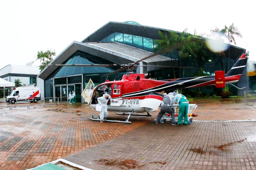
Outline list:
[[[92,169],[256,169],[256,122],[148,123],[68,158]]]

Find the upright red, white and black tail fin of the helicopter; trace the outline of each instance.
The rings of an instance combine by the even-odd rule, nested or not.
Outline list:
[[[242,75],[247,63],[248,55],[248,53],[242,54],[241,57],[237,60],[237,62],[234,64],[234,66],[228,71],[226,76],[229,77],[235,75]]]

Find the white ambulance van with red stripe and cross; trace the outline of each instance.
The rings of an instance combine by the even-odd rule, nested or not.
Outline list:
[[[22,101],[36,103],[38,100],[41,100],[41,93],[40,88],[36,87],[35,84],[17,87],[6,97],[6,102],[12,102],[12,104]]]

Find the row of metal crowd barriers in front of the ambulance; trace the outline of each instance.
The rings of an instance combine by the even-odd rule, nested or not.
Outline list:
[[[27,107],[40,106],[46,107],[46,105],[59,105],[63,103],[68,103],[68,97],[46,97],[46,98],[36,98],[35,99],[1,99],[0,108],[13,107]]]

